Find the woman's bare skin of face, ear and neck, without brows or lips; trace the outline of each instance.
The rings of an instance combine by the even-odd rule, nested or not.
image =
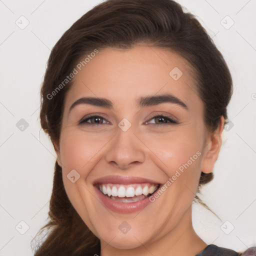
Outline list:
[[[174,67],[183,73],[176,81],[169,75]],[[163,93],[179,98],[188,109],[167,102],[143,108],[135,104],[139,96]],[[82,96],[107,98],[113,109],[79,104],[68,113],[70,105]],[[103,115],[103,119],[78,124],[92,113]],[[152,118],[156,113],[174,118],[178,124]],[[125,132],[117,126],[124,117],[131,123]],[[193,230],[191,204],[201,171],[212,171],[217,159],[223,121],[221,117],[219,127],[208,131],[193,69],[168,49],[147,45],[105,48],[75,75],[65,97],[59,144],[54,148],[66,193],[99,237],[101,255],[192,256],[207,246]],[[99,124],[91,127],[91,123]],[[112,212],[95,197],[92,183],[96,178],[139,176],[164,184],[197,151],[201,155],[140,212]],[[74,183],[66,177],[72,169],[80,174]],[[131,226],[125,234],[118,229],[123,221]]]

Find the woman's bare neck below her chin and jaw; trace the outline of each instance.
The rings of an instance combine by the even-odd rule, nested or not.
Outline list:
[[[110,242],[111,243],[111,242]],[[195,233],[191,220],[191,206],[169,232],[157,240],[150,240],[132,249],[118,249],[100,240],[101,256],[194,256],[207,244]]]

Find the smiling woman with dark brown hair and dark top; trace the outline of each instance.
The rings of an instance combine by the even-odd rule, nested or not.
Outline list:
[[[34,255],[240,255],[207,245],[191,221],[231,93],[221,53],[175,1],[85,13],[53,47],[41,87],[57,160]]]

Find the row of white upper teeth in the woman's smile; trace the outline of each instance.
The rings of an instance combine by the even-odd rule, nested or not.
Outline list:
[[[100,184],[99,190],[103,194],[107,194],[108,196],[118,196],[118,197],[133,197],[134,195],[148,195],[153,193],[157,184],[128,184],[128,185],[120,185],[120,184]]]

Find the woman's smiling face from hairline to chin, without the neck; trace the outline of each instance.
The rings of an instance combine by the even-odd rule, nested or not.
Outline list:
[[[192,68],[144,45],[99,50],[81,67],[55,147],[75,210],[116,248],[187,228],[201,170],[211,171],[218,153]]]

